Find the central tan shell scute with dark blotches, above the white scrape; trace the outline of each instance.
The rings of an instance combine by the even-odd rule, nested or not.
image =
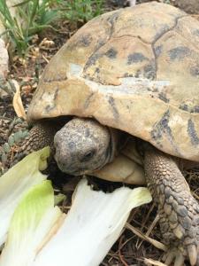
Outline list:
[[[114,51],[114,56],[110,55]],[[147,77],[156,75],[154,55],[150,44],[136,37],[111,38],[89,59],[84,67],[84,77],[103,84],[119,84],[125,74]],[[97,71],[98,69],[98,71]]]

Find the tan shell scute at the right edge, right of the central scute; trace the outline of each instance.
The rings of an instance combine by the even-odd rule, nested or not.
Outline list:
[[[157,57],[157,80],[171,81],[165,95],[172,106],[197,113],[199,50],[175,30],[155,43],[155,47],[160,45],[162,53]]]

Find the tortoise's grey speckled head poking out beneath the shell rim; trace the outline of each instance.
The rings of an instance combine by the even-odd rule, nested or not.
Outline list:
[[[57,166],[73,176],[92,174],[119,153],[120,136],[93,119],[73,118],[54,137]]]

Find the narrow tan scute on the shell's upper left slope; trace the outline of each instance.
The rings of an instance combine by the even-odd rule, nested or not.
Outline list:
[[[50,59],[42,75],[45,82],[62,81],[67,79],[70,64],[85,66],[89,58],[94,54],[111,36],[112,24],[110,17],[114,17],[119,11],[104,14],[96,19],[88,21],[86,25],[73,35],[67,43],[57,51],[55,57]],[[55,71],[56,66],[56,71]]]

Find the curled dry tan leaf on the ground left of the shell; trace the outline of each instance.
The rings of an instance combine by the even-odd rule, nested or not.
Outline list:
[[[25,112],[21,97],[20,97],[20,88],[19,83],[15,80],[11,80],[11,82],[14,83],[14,86],[16,88],[16,92],[14,94],[12,105],[14,107],[15,113],[17,113],[18,117],[22,117],[24,120],[27,120],[27,114]]]

